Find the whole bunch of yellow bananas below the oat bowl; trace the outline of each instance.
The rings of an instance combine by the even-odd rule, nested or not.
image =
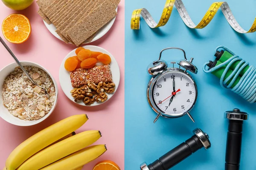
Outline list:
[[[74,115],[41,130],[12,151],[3,170],[81,170],[107,150],[104,144],[88,147],[101,137],[99,130],[75,135],[87,120]]]

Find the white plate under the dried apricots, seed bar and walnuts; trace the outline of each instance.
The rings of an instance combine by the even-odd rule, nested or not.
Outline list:
[[[110,70],[112,72],[112,78],[113,78],[113,82],[116,84],[116,89],[114,91],[113,94],[107,94],[108,95],[108,99],[107,101],[115,94],[117,88],[118,88],[118,85],[119,85],[119,81],[120,81],[120,70],[119,70],[119,66],[116,62],[116,59],[107,51],[105,50],[104,48],[101,48],[101,47],[98,47],[98,46],[94,46],[94,45],[86,45],[86,46],[83,46],[85,49],[89,49],[91,51],[98,51],[98,52],[102,52],[102,53],[105,53],[105,54],[108,54],[110,57],[111,57],[111,63],[110,63]],[[73,102],[74,101],[74,98],[72,97],[70,91],[73,89],[72,85],[71,85],[71,79],[70,79],[70,72],[67,71],[65,68],[64,68],[64,63],[66,61],[66,59],[68,57],[73,57],[73,56],[76,56],[76,49],[74,49],[73,51],[71,51],[69,54],[67,54],[67,56],[63,59],[62,63],[61,63],[61,68],[60,68],[60,71],[59,71],[59,81],[60,81],[60,84],[61,84],[61,88],[62,90],[64,91],[64,94],[66,94],[66,96],[72,100]],[[100,62],[97,62],[96,65],[102,65]],[[107,102],[105,101],[105,102]],[[103,102],[103,103],[105,103]],[[83,105],[83,106],[89,106],[89,105],[85,105],[82,101],[77,101],[75,102],[79,105]],[[98,103],[98,102],[94,102],[92,105],[90,106],[96,106],[96,105],[101,105],[102,103]]]

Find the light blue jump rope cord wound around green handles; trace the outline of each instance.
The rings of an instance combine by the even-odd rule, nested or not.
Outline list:
[[[254,103],[256,101],[256,68],[254,66],[250,66],[249,69],[244,73],[244,75],[241,77],[237,85],[233,88],[231,86],[234,84],[236,78],[239,76],[240,72],[249,65],[249,62],[245,62],[244,59],[240,58],[238,55],[236,55],[233,51],[231,51],[229,48],[225,46],[218,46],[215,49],[215,53],[219,48],[223,48],[224,50],[228,51],[230,54],[233,54],[233,57],[228,59],[227,61],[223,62],[220,65],[216,65],[215,67],[211,69],[207,69],[207,64],[209,62],[206,62],[203,66],[203,71],[205,73],[211,73],[212,71],[215,71],[219,68],[221,68],[224,65],[227,65],[223,74],[221,75],[220,79],[220,85],[222,88],[230,88],[233,92],[236,94],[239,94],[241,97],[246,99],[250,103]],[[230,74],[229,77],[224,79],[224,77],[227,74],[227,70],[230,68],[230,66],[236,62],[240,61],[239,64],[236,66],[236,68],[233,70],[232,74]],[[227,82],[229,82],[231,79],[231,82],[227,85]]]

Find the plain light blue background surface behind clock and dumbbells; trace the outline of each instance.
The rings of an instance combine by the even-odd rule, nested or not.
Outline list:
[[[196,3],[195,3],[196,2]],[[183,0],[190,17],[199,23],[214,1]],[[228,4],[240,25],[249,30],[256,16],[256,1],[230,0]],[[212,147],[201,149],[177,164],[172,170],[224,170],[227,137],[225,111],[240,108],[249,113],[244,123],[241,170],[256,169],[256,104],[249,104],[232,91],[223,89],[212,74],[202,71],[202,65],[214,59],[214,49],[225,45],[243,59],[256,66],[256,33],[239,34],[217,12],[204,29],[190,29],[181,20],[174,7],[169,22],[164,27],[149,28],[141,20],[140,31],[130,29],[131,13],[137,8],[147,8],[158,22],[165,0],[125,1],[125,170],[138,170],[140,163],[151,163],[167,151],[192,136],[192,130],[201,128],[209,134]],[[192,74],[198,85],[198,101],[191,114],[177,119],[160,119],[153,124],[156,113],[149,107],[146,87],[151,78],[146,72],[148,64],[156,60],[160,50],[175,46],[186,51],[187,58],[194,57],[198,74]],[[165,51],[167,62],[183,59],[180,51]]]

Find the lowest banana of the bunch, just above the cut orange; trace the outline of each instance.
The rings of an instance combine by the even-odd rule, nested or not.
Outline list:
[[[41,170],[74,170],[101,156],[107,150],[106,145],[94,145],[62,158]]]

